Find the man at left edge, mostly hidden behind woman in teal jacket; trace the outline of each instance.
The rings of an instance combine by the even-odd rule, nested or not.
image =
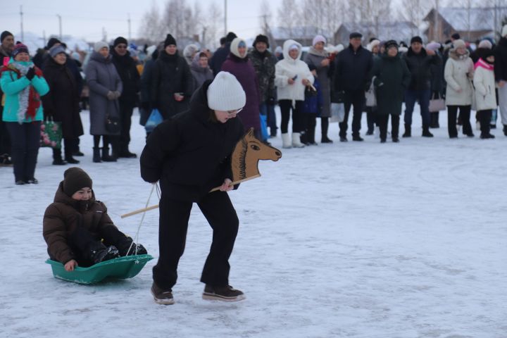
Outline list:
[[[12,56],[14,49],[14,35],[11,32],[4,31],[0,35],[0,61],[1,65],[7,64]],[[0,65],[0,67],[1,67]],[[0,88],[0,98],[4,96],[4,92]],[[11,137],[5,126],[5,122],[2,120],[2,113],[4,106],[0,104],[0,165],[12,165],[11,161]]]

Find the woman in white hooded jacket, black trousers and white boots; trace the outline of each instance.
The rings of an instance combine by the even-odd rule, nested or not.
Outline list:
[[[302,148],[301,143],[302,113],[306,86],[313,84],[313,75],[308,65],[300,60],[301,44],[287,40],[283,45],[284,58],[275,65],[275,85],[277,86],[278,104],[282,113],[282,142],[284,148],[295,146]],[[292,110],[292,144],[288,133],[290,111]]]

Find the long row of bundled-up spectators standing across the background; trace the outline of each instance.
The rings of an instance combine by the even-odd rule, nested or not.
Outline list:
[[[353,32],[346,48],[334,48],[317,35],[306,53],[294,39],[272,52],[265,35],[248,46],[233,32],[220,40],[214,53],[196,44],[180,49],[170,34],[161,44],[144,49],[117,37],[112,44],[96,42],[86,65],[82,54],[56,38],[49,39],[33,58],[10,32],[2,32],[0,39],[0,164],[13,165],[16,184],[37,183],[44,120],[61,123],[63,151],[53,149],[53,164],[80,162],[83,96],[87,96],[89,134],[94,141],[92,161],[136,158],[129,149],[134,108],[139,108],[142,125],[154,109],[168,120],[187,111],[194,92],[220,71],[234,75],[246,92],[246,104],[238,115],[244,127],[253,127],[256,137],[266,143],[280,129],[286,149],[316,145],[317,118],[320,142],[332,143],[328,128],[334,114],[339,115],[339,141],[347,142],[351,108],[352,141],[363,141],[361,120],[366,112],[366,135],[377,134],[380,142],[386,142],[390,116],[390,136],[399,142],[403,103],[401,137],[412,137],[416,103],[422,137],[433,136],[430,128],[439,127],[439,111],[446,110],[451,139],[458,137],[460,129],[466,137],[474,137],[475,123],[481,139],[493,138],[490,129],[496,127],[498,106],[507,136],[507,25],[496,45],[492,39],[470,44],[454,34],[445,44],[423,44],[415,36],[409,45],[373,38],[363,46],[361,33]],[[146,55],[142,61],[137,55],[141,50]]]

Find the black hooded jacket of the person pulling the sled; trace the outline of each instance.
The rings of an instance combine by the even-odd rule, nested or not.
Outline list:
[[[244,127],[239,118],[211,120],[206,96],[210,84],[207,80],[194,93],[189,111],[158,125],[142,151],[141,177],[160,180],[162,195],[170,199],[199,201],[232,178],[230,155]]]

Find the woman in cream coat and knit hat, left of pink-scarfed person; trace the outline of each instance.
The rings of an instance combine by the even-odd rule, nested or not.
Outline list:
[[[463,134],[473,137],[472,125],[470,125],[470,109],[472,108],[472,83],[474,67],[470,58],[470,52],[466,49],[465,42],[458,39],[453,42],[454,48],[449,51],[449,59],[446,62],[444,78],[447,82],[446,106],[447,106],[447,129],[451,139],[458,137],[456,129],[456,115],[458,108],[463,122]]]

